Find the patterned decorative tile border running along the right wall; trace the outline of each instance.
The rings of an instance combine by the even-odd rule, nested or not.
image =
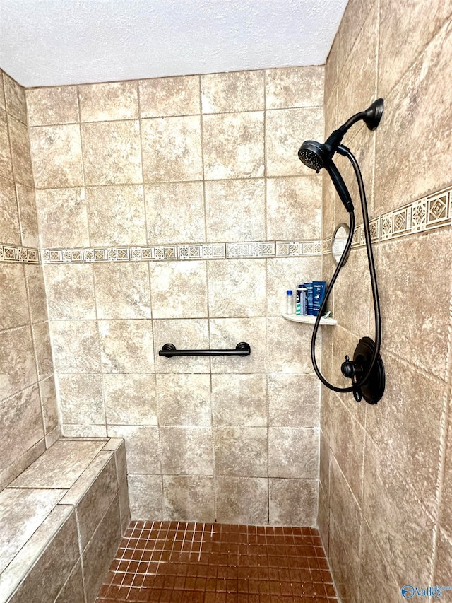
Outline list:
[[[417,199],[370,221],[372,242],[392,240],[426,230],[451,226],[452,186]],[[323,240],[323,254],[331,253],[331,237]],[[359,224],[353,235],[352,249],[364,247],[364,228]]]

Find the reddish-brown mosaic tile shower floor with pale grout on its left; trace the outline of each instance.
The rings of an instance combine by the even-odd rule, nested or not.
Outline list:
[[[131,522],[96,603],[336,601],[309,527]]]

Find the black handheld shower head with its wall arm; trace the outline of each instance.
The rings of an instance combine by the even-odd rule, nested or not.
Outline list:
[[[316,170],[317,173],[319,173],[321,168],[327,170],[328,174],[331,176],[331,180],[333,180],[335,189],[338,191],[341,201],[345,205],[345,209],[349,212],[353,211],[352,199],[350,199],[350,193],[345,186],[345,182],[343,181],[338,168],[336,168],[333,163],[333,155],[337,151],[341,153],[340,143],[342,142],[345,132],[347,132],[353,124],[356,124],[356,122],[359,122],[359,120],[362,119],[369,130],[374,130],[378,127],[382,115],[383,99],[377,98],[367,110],[356,113],[355,115],[352,115],[350,119],[347,119],[347,122],[333,131],[323,144],[315,140],[307,140],[304,141],[299,148],[298,157],[304,165],[311,170]]]

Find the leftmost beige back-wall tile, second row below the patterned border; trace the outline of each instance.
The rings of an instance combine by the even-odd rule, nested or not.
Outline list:
[[[54,320],[52,351],[58,373],[100,373],[100,347],[94,320]]]

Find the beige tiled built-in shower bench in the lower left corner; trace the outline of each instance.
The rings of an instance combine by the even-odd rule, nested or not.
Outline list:
[[[61,438],[0,492],[0,603],[93,603],[129,525],[121,438]]]

